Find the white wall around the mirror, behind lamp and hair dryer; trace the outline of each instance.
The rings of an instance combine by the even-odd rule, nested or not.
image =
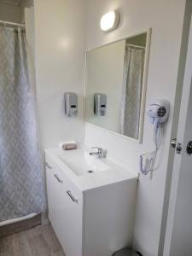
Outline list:
[[[117,38],[143,32],[152,27],[152,42],[148,68],[148,104],[153,98],[166,98],[171,103],[171,113],[163,131],[161,150],[153,179],[140,177],[137,194],[137,214],[134,247],[144,256],[157,256],[160,226],[166,186],[166,170],[172,130],[172,109],[177,84],[177,68],[182,38],[184,0],[87,0],[86,48],[94,48]],[[118,9],[122,20],[114,32],[103,33],[99,21],[110,9]],[[86,125],[85,143],[108,148],[110,157],[139,170],[139,154],[154,148],[153,127],[145,114],[143,144],[119,137]],[[160,255],[161,256],[161,255]]]

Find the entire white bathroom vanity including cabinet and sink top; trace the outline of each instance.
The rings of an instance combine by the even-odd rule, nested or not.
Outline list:
[[[45,150],[49,220],[67,256],[131,246],[137,175],[88,148]]]

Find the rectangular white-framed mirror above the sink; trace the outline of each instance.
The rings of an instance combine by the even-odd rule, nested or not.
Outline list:
[[[151,30],[86,53],[85,121],[142,143]]]

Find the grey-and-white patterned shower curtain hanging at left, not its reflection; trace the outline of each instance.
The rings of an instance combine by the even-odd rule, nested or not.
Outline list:
[[[44,212],[44,179],[25,32],[0,28],[0,221]]]

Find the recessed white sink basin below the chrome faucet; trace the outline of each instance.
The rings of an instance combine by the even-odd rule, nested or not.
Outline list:
[[[95,156],[91,156],[82,148],[74,149],[73,154],[70,150],[65,151],[63,154],[58,154],[58,158],[78,176],[110,169],[108,164],[104,163],[101,159],[96,159]]]

